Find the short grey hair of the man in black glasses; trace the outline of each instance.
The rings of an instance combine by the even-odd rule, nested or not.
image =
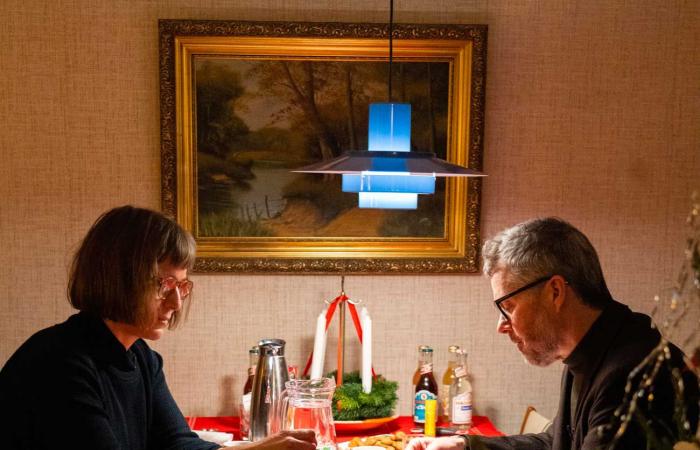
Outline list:
[[[593,245],[562,219],[533,219],[503,230],[484,243],[482,255],[489,277],[503,270],[509,283],[525,284],[561,275],[589,306],[612,301]]]

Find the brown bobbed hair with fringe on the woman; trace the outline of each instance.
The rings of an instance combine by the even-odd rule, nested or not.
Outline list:
[[[68,298],[74,308],[102,319],[145,325],[156,294],[158,264],[192,269],[192,235],[163,214],[121,206],[93,224],[73,258]],[[185,302],[189,309],[189,297]],[[173,314],[170,328],[180,320]]]

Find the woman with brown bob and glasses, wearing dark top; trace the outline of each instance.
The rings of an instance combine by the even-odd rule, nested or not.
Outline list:
[[[0,371],[2,447],[213,449],[194,434],[144,339],[189,307],[192,236],[162,214],[123,206],[92,226],[70,272],[80,312],[30,337]],[[250,449],[315,449],[285,432]]]

